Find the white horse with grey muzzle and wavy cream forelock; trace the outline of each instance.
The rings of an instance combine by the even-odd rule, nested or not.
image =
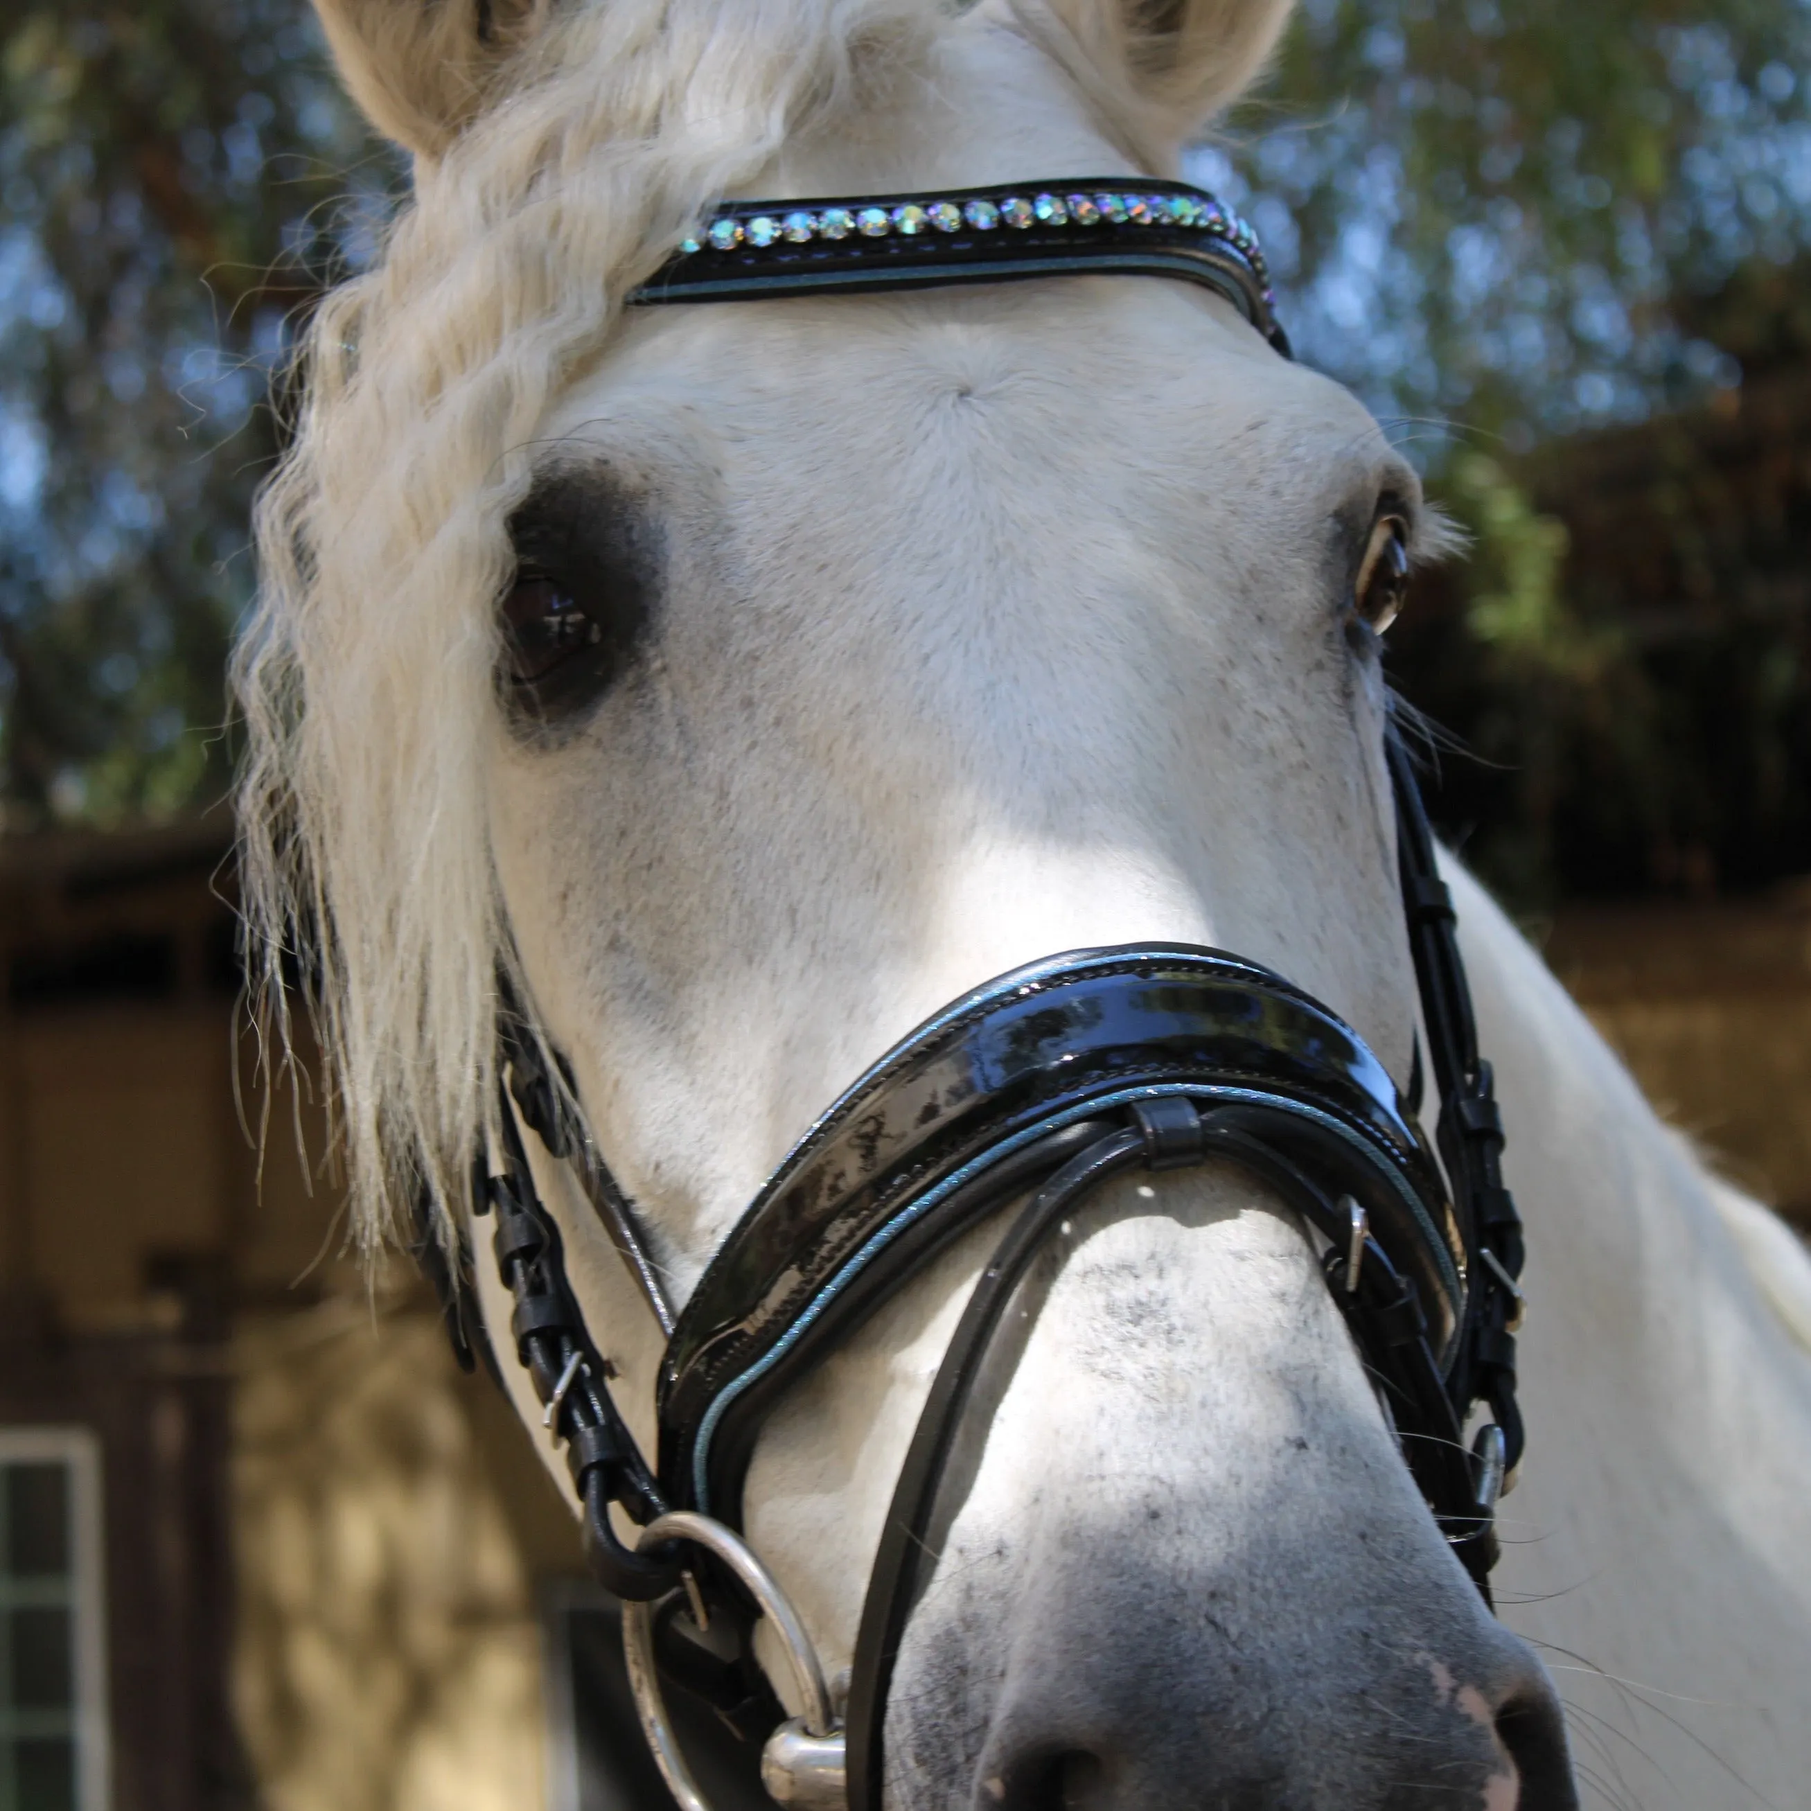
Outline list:
[[[1407,1076],[1365,569],[1440,527],[1349,395],[1145,277],[621,306],[724,196],[1163,174],[1286,0],[319,4],[417,185],[311,331],[241,802],[254,924],[319,962],[368,1237],[422,1177],[467,1212],[500,958],[679,1298],[844,1083],[1056,951],[1239,951]],[[498,677],[511,623],[560,652],[518,560],[581,612],[538,714]],[[1811,1800],[1811,1271],[1451,878],[1530,1248],[1503,1621],[1280,1203],[1114,1184],[909,1623],[898,1811],[1554,1811],[1548,1670],[1590,1802]],[[652,1443],[657,1329],[536,1163]],[[755,1451],[748,1536],[831,1672],[989,1237]]]

